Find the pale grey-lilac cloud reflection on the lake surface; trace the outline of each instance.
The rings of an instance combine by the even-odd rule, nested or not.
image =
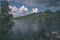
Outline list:
[[[13,27],[13,32],[21,31],[27,32],[29,29],[37,31],[38,30],[38,23],[32,21],[23,21],[19,19],[15,19],[15,26]]]

